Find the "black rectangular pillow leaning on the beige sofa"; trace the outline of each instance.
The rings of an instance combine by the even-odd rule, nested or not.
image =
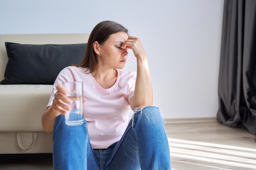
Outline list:
[[[81,63],[86,45],[5,42],[9,59],[0,84],[54,84],[63,68]]]

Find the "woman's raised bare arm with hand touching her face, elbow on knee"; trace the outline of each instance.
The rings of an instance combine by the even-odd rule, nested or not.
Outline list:
[[[140,106],[153,105],[153,87],[148,68],[146,53],[139,38],[129,36],[121,48],[132,49],[137,58],[137,79],[134,96],[130,99],[132,110]]]

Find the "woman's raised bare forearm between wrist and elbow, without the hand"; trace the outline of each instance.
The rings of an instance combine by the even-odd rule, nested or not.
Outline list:
[[[137,79],[132,104],[134,105],[133,108],[153,105],[153,87],[146,55],[137,57]]]

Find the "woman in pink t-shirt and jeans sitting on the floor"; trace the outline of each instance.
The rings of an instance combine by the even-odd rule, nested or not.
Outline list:
[[[121,71],[128,51],[137,74]],[[70,99],[62,82],[83,82],[85,123],[65,125]],[[56,78],[42,125],[53,131],[54,170],[171,170],[164,120],[153,105],[148,61],[139,38],[103,21],[90,34],[85,57]],[[128,122],[130,108],[134,110]]]

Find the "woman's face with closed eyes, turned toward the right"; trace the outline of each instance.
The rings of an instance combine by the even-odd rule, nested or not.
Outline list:
[[[128,35],[125,32],[117,32],[110,35],[108,40],[99,46],[99,66],[123,69],[128,57],[128,51],[127,49],[121,49],[120,46],[127,38]]]

